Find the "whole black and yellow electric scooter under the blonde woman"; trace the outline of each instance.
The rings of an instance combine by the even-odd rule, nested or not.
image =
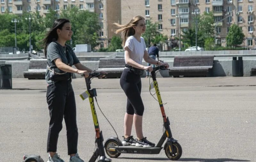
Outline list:
[[[136,146],[123,146],[120,139],[116,137],[110,137],[106,140],[104,147],[106,153],[111,158],[117,158],[121,155],[121,153],[132,153],[132,154],[159,154],[162,150],[162,145],[167,138],[167,142],[164,144],[164,151],[167,158],[171,160],[178,160],[182,155],[182,148],[178,141],[172,137],[172,132],[170,128],[169,118],[166,117],[163,102],[161,99],[160,91],[158,88],[158,83],[156,81],[156,71],[157,70],[165,70],[164,66],[154,67],[151,72],[151,76],[153,79],[153,85],[150,87],[154,87],[156,90],[157,99],[159,102],[159,106],[162,112],[163,120],[164,120],[164,133],[160,138],[159,142],[154,147],[136,147]]]

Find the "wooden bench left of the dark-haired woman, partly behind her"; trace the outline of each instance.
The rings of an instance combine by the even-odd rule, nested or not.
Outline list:
[[[28,71],[23,72],[24,78],[45,79],[47,60],[30,60]]]

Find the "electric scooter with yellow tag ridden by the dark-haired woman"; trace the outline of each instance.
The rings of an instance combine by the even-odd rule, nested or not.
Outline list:
[[[103,139],[102,131],[100,130],[98,117],[97,117],[95,106],[94,106],[93,97],[97,96],[97,92],[96,92],[95,88],[91,88],[91,78],[100,76],[102,74],[99,72],[93,72],[93,73],[89,73],[89,74],[90,74],[89,77],[85,78],[87,91],[85,91],[84,93],[82,93],[80,95],[80,97],[83,100],[85,100],[87,97],[89,97],[89,102],[90,102],[90,106],[91,106],[91,110],[92,110],[92,118],[93,118],[94,128],[95,128],[95,132],[96,132],[95,143],[97,144],[97,149],[95,152],[93,152],[93,155],[90,158],[89,162],[95,162],[98,159],[98,157],[99,157],[98,162],[109,162],[109,161],[111,161],[111,159],[106,157],[106,154],[104,151],[104,145],[103,145],[104,139]],[[81,74],[81,76],[84,76],[84,74]],[[37,155],[32,155],[32,156],[24,155],[23,160],[24,160],[23,162],[44,162],[44,160],[39,155],[38,156]]]

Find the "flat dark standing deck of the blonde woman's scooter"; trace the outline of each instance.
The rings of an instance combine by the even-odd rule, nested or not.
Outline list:
[[[163,147],[111,146],[119,153],[159,154]]]

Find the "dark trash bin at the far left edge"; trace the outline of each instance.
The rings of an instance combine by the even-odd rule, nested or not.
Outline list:
[[[12,65],[0,64],[0,89],[12,89]]]

